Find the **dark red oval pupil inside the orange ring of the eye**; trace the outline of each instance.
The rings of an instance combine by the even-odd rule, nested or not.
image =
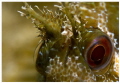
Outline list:
[[[93,49],[91,54],[91,59],[94,61],[96,65],[99,65],[105,55],[105,49],[103,46],[97,46]]]

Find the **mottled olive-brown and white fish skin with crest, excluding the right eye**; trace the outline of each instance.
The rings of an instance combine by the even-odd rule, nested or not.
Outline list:
[[[27,4],[26,7],[22,8],[30,14],[33,23],[40,30],[40,37],[41,35],[43,36],[35,51],[36,68],[41,74],[41,81],[118,82],[119,32],[117,31],[116,35],[113,30],[114,28],[117,30],[119,27],[119,3],[72,2],[60,3],[60,5],[55,5],[55,7],[58,7],[60,12],[55,15],[52,15],[52,11],[47,11],[46,14],[46,12],[40,10],[43,20],[37,18],[40,16],[37,16],[37,14],[33,12],[33,9],[29,8]],[[20,13],[27,17],[27,14]],[[46,23],[44,18],[47,19]],[[48,28],[51,27],[51,25],[49,25],[50,22],[54,25],[52,27],[56,26],[58,29],[59,27],[61,28],[61,36],[59,36],[59,30],[55,32],[56,30],[53,29],[54,33],[47,34],[46,37],[45,32],[52,32]],[[44,31],[43,27],[47,29]],[[84,29],[80,28],[79,30],[77,27],[99,28],[110,37],[114,46],[114,52],[109,67],[107,67],[107,72],[95,73],[85,62],[77,44],[83,40],[80,31],[84,31]],[[74,34],[74,29],[76,29],[77,35]],[[51,38],[48,35],[55,36]],[[98,70],[98,72],[101,72],[101,70]]]

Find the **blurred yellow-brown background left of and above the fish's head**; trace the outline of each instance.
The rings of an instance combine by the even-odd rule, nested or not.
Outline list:
[[[55,10],[53,2],[28,3],[33,8],[48,6]],[[30,19],[21,17],[22,2],[2,2],[2,81],[36,82],[39,74],[35,69],[34,51],[39,42],[39,31]],[[35,8],[34,8],[35,9]]]

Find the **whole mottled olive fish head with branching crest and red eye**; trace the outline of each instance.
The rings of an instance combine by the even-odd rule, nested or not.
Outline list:
[[[119,3],[60,2],[55,12],[25,3],[40,41],[34,59],[40,81],[119,81]],[[117,28],[117,29],[116,29]],[[116,33],[114,33],[114,31]]]

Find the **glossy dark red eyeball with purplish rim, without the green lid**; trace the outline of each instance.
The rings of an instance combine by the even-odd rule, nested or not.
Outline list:
[[[87,51],[87,63],[93,70],[105,68],[112,58],[112,43],[107,36],[95,38]]]

